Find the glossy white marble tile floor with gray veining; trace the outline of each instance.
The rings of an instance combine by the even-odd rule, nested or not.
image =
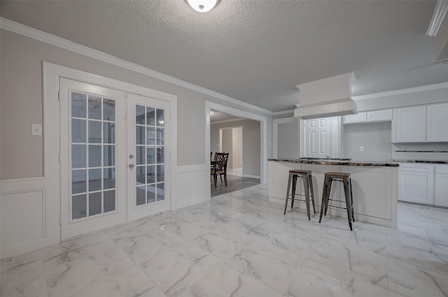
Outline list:
[[[267,185],[1,261],[0,296],[448,296],[448,210],[400,203],[398,229],[304,210]]]

